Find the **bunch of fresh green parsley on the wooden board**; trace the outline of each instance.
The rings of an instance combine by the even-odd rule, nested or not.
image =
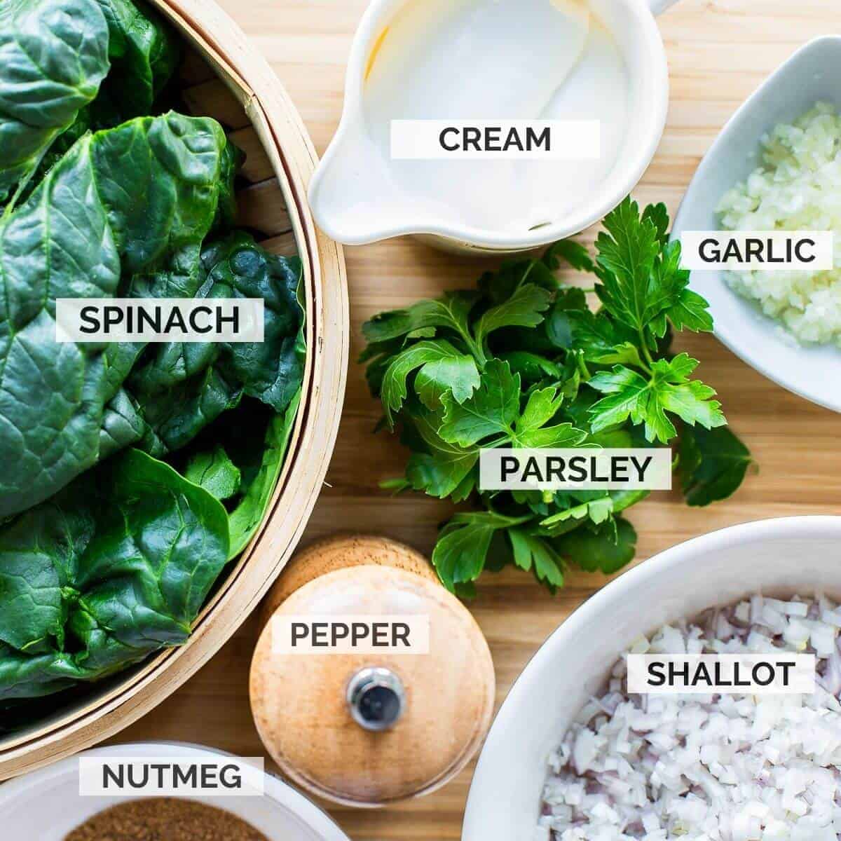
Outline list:
[[[622,512],[648,491],[480,492],[484,447],[646,447],[680,436],[690,505],[733,494],[750,463],[698,361],[669,353],[672,332],[711,331],[688,288],[663,204],[642,216],[627,198],[604,221],[591,259],[571,240],[508,262],[476,290],[422,300],[363,325],[368,385],[384,423],[410,448],[405,477],[383,483],[479,510],[442,528],[432,563],[462,595],[484,569],[509,563],[555,590],[569,563],[616,572],[634,556]],[[558,283],[561,261],[595,275],[600,309]]]

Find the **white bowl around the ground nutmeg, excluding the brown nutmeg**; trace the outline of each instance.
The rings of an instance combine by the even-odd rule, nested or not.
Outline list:
[[[97,748],[82,756],[195,757],[218,759],[223,751],[172,742],[135,743]],[[12,782],[0,785],[0,815],[3,838],[37,838],[63,841],[97,812],[125,797],[80,797],[78,757],[63,759]],[[226,809],[262,832],[269,841],[349,841],[345,833],[294,788],[270,774],[265,775],[262,797],[194,797],[193,800]]]

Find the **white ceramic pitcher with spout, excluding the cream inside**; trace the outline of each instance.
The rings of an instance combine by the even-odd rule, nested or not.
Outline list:
[[[616,165],[606,180],[569,213],[533,230],[500,233],[442,222],[431,203],[425,206],[414,200],[395,188],[394,179],[389,177],[390,161],[368,133],[362,89],[378,40],[407,0],[373,0],[353,41],[341,123],[309,187],[315,220],[327,235],[346,245],[412,234],[449,251],[475,254],[528,251],[577,234],[599,221],[637,185],[663,135],[669,71],[654,15],[674,2],[589,0],[616,40],[629,78],[627,129]]]

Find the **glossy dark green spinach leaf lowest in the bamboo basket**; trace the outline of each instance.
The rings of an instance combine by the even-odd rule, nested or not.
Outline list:
[[[0,700],[183,643],[229,556],[222,505],[137,450],[0,528]]]

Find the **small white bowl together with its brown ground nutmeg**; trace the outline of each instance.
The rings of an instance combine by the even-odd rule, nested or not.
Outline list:
[[[104,763],[87,760],[107,760]],[[183,743],[134,743],[97,748],[0,786],[3,837],[39,841],[348,841],[314,803],[277,777],[254,769],[251,791],[224,796],[193,790],[184,796],[96,794],[92,768],[156,769],[168,761],[186,774],[193,767],[225,769],[230,754]],[[143,760],[152,760],[144,764]],[[221,761],[220,761],[221,760]],[[237,760],[239,763],[242,760]],[[224,771],[223,771],[224,773]],[[82,784],[82,775],[85,784]],[[201,776],[197,778],[201,780]],[[205,784],[207,779],[204,780]],[[259,785],[253,785],[256,781]],[[135,780],[136,782],[136,780]],[[123,780],[123,787],[129,785]],[[93,786],[93,787],[92,787]],[[261,793],[257,794],[257,789]],[[188,791],[186,785],[184,791]]]

